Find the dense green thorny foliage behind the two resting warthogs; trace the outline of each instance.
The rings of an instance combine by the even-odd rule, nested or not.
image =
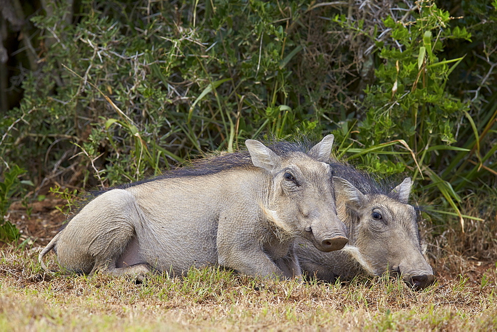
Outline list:
[[[3,206],[333,133],[413,177],[433,258],[497,258],[496,0],[6,3]]]

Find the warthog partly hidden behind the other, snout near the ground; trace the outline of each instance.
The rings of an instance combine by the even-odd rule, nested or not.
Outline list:
[[[351,166],[331,163],[338,217],[348,229],[349,245],[323,253],[298,242],[296,253],[307,275],[333,282],[360,273],[402,275],[416,289],[435,277],[420,247],[417,214],[408,204],[412,182],[406,178],[393,190],[382,190],[370,176]],[[347,181],[348,180],[348,181]],[[397,273],[395,273],[397,272]]]

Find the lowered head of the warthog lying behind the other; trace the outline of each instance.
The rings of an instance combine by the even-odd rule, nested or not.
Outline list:
[[[363,194],[350,182],[334,177],[334,185],[344,206],[338,215],[355,214],[349,227],[349,252],[368,272],[381,275],[400,274],[415,289],[434,283],[431,266],[424,258],[417,229],[417,215],[408,204],[411,178],[406,178],[390,194]],[[337,199],[340,201],[340,199]],[[343,219],[344,220],[344,219]]]

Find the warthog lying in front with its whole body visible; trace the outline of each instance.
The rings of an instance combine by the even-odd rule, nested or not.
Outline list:
[[[310,150],[247,140],[248,152],[211,157],[92,199],[39,255],[54,248],[73,272],[138,280],[219,264],[264,277],[300,277],[297,236],[317,249],[348,241],[333,200],[333,135]]]

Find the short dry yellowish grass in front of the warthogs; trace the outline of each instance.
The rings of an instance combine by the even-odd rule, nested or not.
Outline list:
[[[497,329],[494,266],[480,281],[460,275],[416,292],[384,277],[301,284],[215,268],[192,269],[183,279],[155,275],[143,284],[106,275],[51,276],[37,254],[2,252],[1,331]]]

